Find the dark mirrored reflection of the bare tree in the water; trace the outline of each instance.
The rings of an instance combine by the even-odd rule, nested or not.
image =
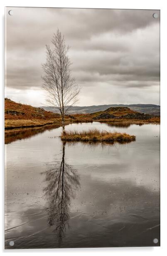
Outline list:
[[[59,237],[59,244],[65,234],[66,226],[69,226],[69,204],[74,198],[75,191],[79,188],[79,175],[76,170],[66,164],[65,143],[63,143],[61,162],[52,164],[47,170],[47,187],[44,188],[45,195],[49,197],[48,224],[55,226],[54,232]]]

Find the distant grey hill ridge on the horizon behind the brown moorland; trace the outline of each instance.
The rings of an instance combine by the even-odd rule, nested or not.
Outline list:
[[[138,111],[140,113],[150,114],[153,116],[160,116],[160,106],[154,105],[154,104],[131,104],[131,105],[125,105],[125,104],[111,104],[111,105],[98,105],[98,106],[73,106],[68,111],[68,114],[85,114],[85,113],[94,113],[98,111],[105,111],[108,108],[111,107],[128,107],[133,111]],[[56,107],[53,106],[42,106],[41,108],[44,108],[46,111],[52,111],[54,113],[57,113],[58,110]]]

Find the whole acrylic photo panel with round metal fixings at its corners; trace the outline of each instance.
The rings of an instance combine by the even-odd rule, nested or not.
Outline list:
[[[5,12],[5,249],[160,246],[160,10]]]

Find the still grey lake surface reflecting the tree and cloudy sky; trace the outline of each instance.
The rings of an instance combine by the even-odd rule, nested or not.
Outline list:
[[[160,246],[160,126],[66,126],[90,128],[136,140],[63,144],[53,126],[6,135],[6,249]]]

